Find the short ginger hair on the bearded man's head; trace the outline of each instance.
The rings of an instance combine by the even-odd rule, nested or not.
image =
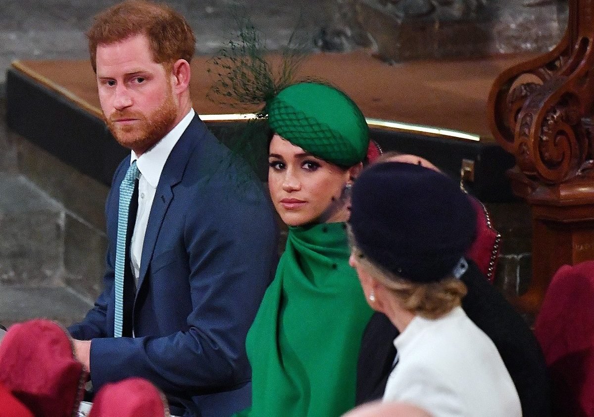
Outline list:
[[[159,64],[173,64],[178,59],[190,62],[194,56],[194,32],[181,14],[165,4],[126,0],[96,15],[87,31],[93,71],[97,72],[98,45],[121,42],[138,34],[149,39],[154,62]]]

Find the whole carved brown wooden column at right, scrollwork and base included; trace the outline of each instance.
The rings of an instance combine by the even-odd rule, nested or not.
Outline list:
[[[594,0],[569,0],[551,52],[504,71],[489,94],[498,143],[514,154],[514,192],[532,208],[532,282],[516,302],[535,314],[563,264],[594,259]]]

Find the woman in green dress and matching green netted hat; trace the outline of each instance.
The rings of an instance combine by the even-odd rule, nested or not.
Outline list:
[[[371,317],[349,266],[349,189],[368,127],[345,93],[318,83],[268,100],[268,187],[289,226],[285,252],[247,337],[252,406],[241,416],[333,417],[355,405]]]

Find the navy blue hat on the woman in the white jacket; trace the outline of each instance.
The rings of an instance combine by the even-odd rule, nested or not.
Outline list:
[[[456,182],[400,162],[364,170],[353,186],[349,223],[367,257],[419,283],[448,276],[476,232],[475,211]]]

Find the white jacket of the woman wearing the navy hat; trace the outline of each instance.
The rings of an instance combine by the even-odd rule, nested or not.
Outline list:
[[[437,320],[416,316],[394,339],[399,362],[384,402],[403,401],[434,417],[520,417],[507,368],[486,334],[456,307]]]

